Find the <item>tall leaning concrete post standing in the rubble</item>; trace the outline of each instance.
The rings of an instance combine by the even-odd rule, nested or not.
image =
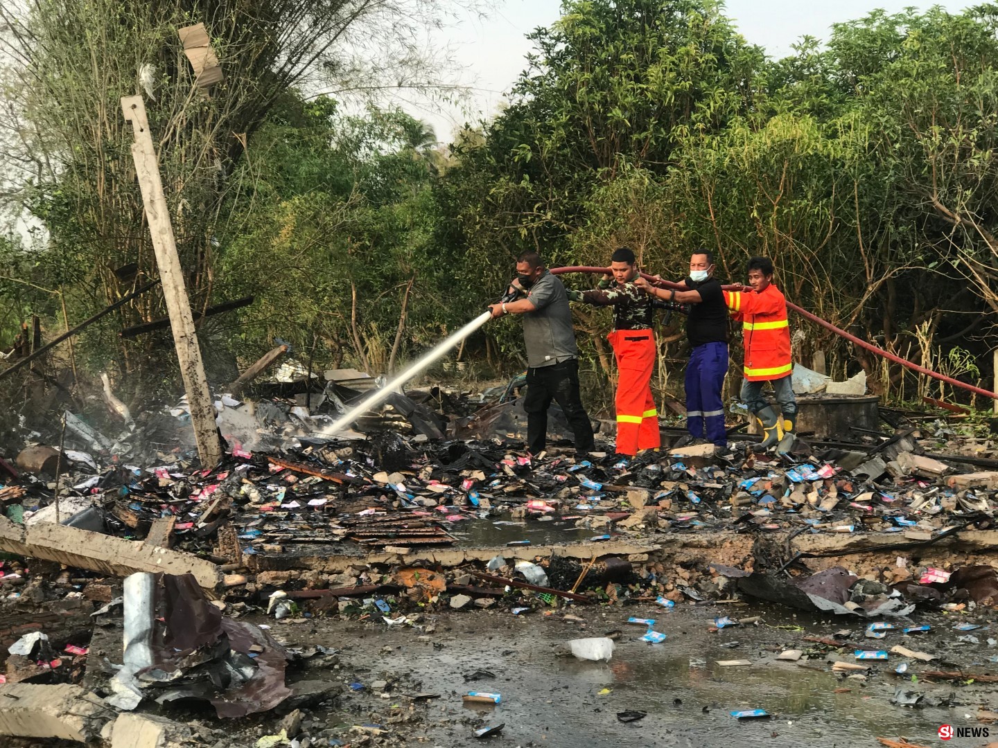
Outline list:
[[[174,227],[170,222],[167,198],[163,194],[163,181],[160,179],[160,166],[153,148],[153,138],[146,119],[146,105],[141,96],[122,97],[122,111],[125,119],[132,123],[135,143],[132,144],[132,157],[135,171],[142,189],[142,199],[146,205],[146,218],[153,236],[156,250],[156,264],[160,268],[163,282],[163,295],[170,313],[170,327],[174,333],[177,359],[187,389],[188,405],[191,406],[191,423],[194,425],[198,454],[206,468],[214,468],[222,460],[222,445],[219,442],[218,428],[215,425],[215,405],[205,376],[205,364],[201,358],[201,347],[194,328],[191,313],[191,300],[184,283],[184,270],[177,254]]]

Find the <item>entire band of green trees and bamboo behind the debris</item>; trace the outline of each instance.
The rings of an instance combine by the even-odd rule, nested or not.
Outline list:
[[[44,41],[19,48],[33,85],[14,76],[10,88],[32,165],[11,193],[47,231],[42,247],[13,233],[0,244],[4,343],[30,313],[65,324],[64,298],[79,319],[127,292],[121,265],[155,275],[117,109],[148,57],[192,300],[256,296],[212,328],[213,346],[244,359],[279,337],[321,364],[392,368],[496,296],[519,251],[592,264],[629,243],[676,278],[697,247],[733,280],[767,254],[791,300],[920,363],[981,376],[998,311],[998,5],[875,11],[773,60],[711,0],[567,0],[531,35],[509,106],[446,149],[402,112],[347,116],[302,95],[309,75],[349,68],[337,29],[365,3],[266,5],[308,39],[236,23],[228,2],[126,2],[123,26],[104,0],[49,0],[12,27]],[[174,31],[199,20],[227,61],[211,98],[193,93]],[[157,299],[114,324],[162,315]],[[577,319],[608,372],[606,318]],[[804,363],[821,350],[836,374],[861,366],[882,389],[915,393],[899,369],[794,324]],[[487,327],[474,353],[515,362],[514,328]],[[103,329],[95,365],[138,370],[163,349]],[[672,332],[663,352],[682,357]]]

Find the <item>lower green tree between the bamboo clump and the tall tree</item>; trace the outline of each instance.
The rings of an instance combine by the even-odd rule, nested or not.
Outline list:
[[[241,316],[253,352],[317,338],[321,360],[378,372],[466,321],[434,251],[436,178],[413,159],[428,140],[398,111],[292,96],[253,136],[222,242],[227,290],[257,297]]]

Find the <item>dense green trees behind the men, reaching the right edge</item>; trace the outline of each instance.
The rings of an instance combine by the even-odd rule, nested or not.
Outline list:
[[[469,198],[442,202],[447,239],[558,264],[626,242],[677,278],[695,247],[733,280],[767,254],[791,300],[973,380],[954,362],[993,347],[996,14],[873,12],[772,61],[712,3],[567,3],[512,106],[458,151],[443,189]],[[804,363],[822,350],[836,374],[903,383],[796,326]]]

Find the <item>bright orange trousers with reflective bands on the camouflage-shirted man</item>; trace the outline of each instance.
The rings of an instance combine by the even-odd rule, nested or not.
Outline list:
[[[662,446],[659,412],[652,397],[655,370],[655,333],[652,330],[614,330],[608,336],[617,358],[617,452]]]

